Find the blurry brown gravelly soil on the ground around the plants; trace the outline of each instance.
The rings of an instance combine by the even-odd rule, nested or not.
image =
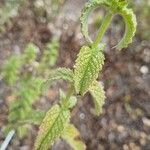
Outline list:
[[[56,67],[73,68],[76,55],[84,43],[78,20],[83,4],[81,0],[66,2],[52,22],[40,21],[30,5],[20,10],[18,16],[12,18],[11,24],[6,26],[6,32],[0,36],[0,64],[10,54],[21,52],[28,42],[35,43],[42,50],[44,44],[57,35],[60,37],[60,48]],[[69,15],[64,17],[66,14]],[[79,129],[87,150],[150,149],[150,42],[135,36],[128,48],[118,52],[112,47],[122,33],[123,30],[115,24],[114,19],[103,39],[107,43],[105,65],[99,75],[107,97],[103,113],[100,117],[93,115],[89,94],[79,98],[77,106],[72,110],[71,122]],[[66,87],[64,83],[61,84]],[[5,88],[0,80],[0,128],[6,122],[5,101],[10,96]],[[51,106],[56,97],[55,90],[51,92],[54,98],[51,101],[42,98],[41,102]],[[38,127],[33,126],[24,139],[13,138],[8,149],[32,149],[37,130]],[[0,142],[3,140],[4,135],[0,130]],[[71,148],[61,140],[52,149]]]

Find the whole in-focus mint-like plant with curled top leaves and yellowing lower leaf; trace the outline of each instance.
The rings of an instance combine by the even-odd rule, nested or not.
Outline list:
[[[107,9],[107,14],[96,38],[92,41],[88,35],[87,22],[91,11],[99,6],[104,6]],[[48,149],[58,138],[65,139],[75,150],[85,149],[85,144],[76,138],[79,132],[70,123],[70,110],[77,103],[75,94],[84,96],[87,92],[90,92],[95,104],[96,114],[100,115],[102,111],[105,92],[103,86],[96,79],[104,65],[103,50],[105,45],[99,44],[99,42],[115,14],[121,15],[125,22],[124,36],[116,46],[117,49],[121,50],[132,42],[136,31],[136,17],[132,10],[127,8],[126,0],[90,0],[85,4],[80,21],[81,31],[87,44],[81,48],[73,70],[58,68],[51,73],[49,80],[46,82],[46,84],[51,85],[52,81],[63,79],[70,83],[70,88],[66,94],[60,91],[59,104],[54,105],[46,113],[35,141],[36,150]]]

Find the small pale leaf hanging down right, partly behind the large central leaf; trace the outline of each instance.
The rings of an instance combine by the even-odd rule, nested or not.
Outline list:
[[[100,115],[105,100],[105,91],[103,86],[95,81],[94,84],[90,87],[89,92],[93,97],[96,115]]]

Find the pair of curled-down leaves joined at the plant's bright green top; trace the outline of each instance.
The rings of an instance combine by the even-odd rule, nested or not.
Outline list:
[[[81,14],[81,31],[86,40],[92,43],[88,35],[88,17],[91,11],[99,6],[105,6],[107,11],[113,14],[120,14],[125,21],[125,33],[122,40],[116,46],[117,49],[127,47],[132,42],[132,38],[136,31],[136,17],[131,9],[127,8],[126,0],[91,0],[87,2],[82,10]]]

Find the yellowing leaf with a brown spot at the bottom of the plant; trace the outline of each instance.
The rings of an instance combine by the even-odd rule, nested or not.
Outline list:
[[[72,124],[66,127],[62,135],[62,138],[66,140],[74,150],[85,150],[86,146],[79,137],[79,131]]]

